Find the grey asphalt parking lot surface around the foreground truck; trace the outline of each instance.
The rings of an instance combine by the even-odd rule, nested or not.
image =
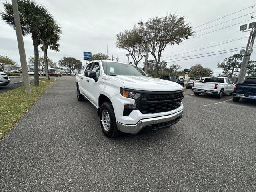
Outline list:
[[[0,191],[256,191],[256,102],[184,90],[178,124],[108,139],[74,83],[57,79],[0,141]]]

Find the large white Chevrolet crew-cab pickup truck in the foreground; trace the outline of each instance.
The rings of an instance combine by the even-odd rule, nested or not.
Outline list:
[[[78,101],[85,98],[98,111],[103,133],[137,134],[176,124],[183,114],[180,84],[149,77],[137,66],[96,60],[76,75]]]

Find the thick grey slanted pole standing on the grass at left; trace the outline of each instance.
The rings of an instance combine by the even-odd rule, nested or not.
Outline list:
[[[23,83],[25,87],[25,93],[31,93],[30,88],[30,80],[28,76],[28,66],[27,66],[27,60],[26,60],[26,53],[24,48],[24,42],[21,32],[21,26],[20,26],[20,15],[18,11],[18,3],[17,0],[12,0],[12,10],[14,14],[14,23],[15,23],[15,31],[18,41],[18,48],[19,48],[19,54],[20,54],[20,64],[22,69],[22,77],[23,77]]]

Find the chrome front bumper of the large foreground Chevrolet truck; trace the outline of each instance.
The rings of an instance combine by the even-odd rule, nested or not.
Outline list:
[[[183,110],[180,110],[174,114],[170,114],[170,115],[166,115],[166,116],[162,116],[162,117],[142,119],[136,125],[127,125],[127,124],[122,124],[120,122],[116,122],[116,126],[117,126],[118,130],[120,130],[121,132],[136,134],[140,130],[142,130],[145,126],[160,124],[160,123],[164,123],[164,122],[171,122],[172,120],[177,119],[176,121],[171,123],[171,125],[176,124],[182,117],[182,114],[183,114]]]

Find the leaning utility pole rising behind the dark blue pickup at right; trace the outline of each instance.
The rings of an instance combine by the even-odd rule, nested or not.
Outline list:
[[[252,49],[252,46],[254,44],[254,39],[255,39],[255,34],[256,30],[254,29],[253,31],[250,32],[249,39],[247,42],[246,50],[244,53],[244,58],[241,66],[241,70],[239,72],[239,77],[238,77],[238,83],[242,83],[245,80],[246,77],[246,71],[248,67],[248,62],[250,60],[251,53],[248,54],[248,49]]]

